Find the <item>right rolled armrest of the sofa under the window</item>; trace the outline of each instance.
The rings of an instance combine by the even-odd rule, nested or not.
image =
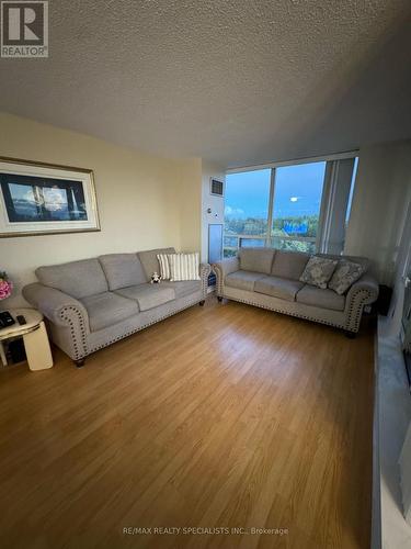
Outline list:
[[[377,281],[367,273],[354,282],[345,300],[347,330],[358,332],[363,309],[377,300],[378,292]]]

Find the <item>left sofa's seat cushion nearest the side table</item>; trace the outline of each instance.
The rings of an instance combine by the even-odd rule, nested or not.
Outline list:
[[[113,292],[98,293],[80,300],[89,313],[91,332],[106,328],[138,313],[138,305]]]

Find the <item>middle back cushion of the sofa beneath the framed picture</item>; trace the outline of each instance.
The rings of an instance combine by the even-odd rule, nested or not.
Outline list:
[[[146,273],[137,254],[107,254],[100,256],[110,290],[147,282]]]

